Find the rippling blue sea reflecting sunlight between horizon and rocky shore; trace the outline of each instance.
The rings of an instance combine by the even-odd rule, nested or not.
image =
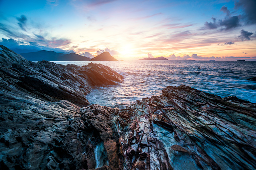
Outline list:
[[[87,65],[84,61],[61,61],[58,64]],[[95,61],[124,76],[114,86],[97,87],[87,99],[91,104],[123,108],[152,95],[161,95],[166,86],[191,86],[207,93],[236,97],[256,103],[256,61]]]

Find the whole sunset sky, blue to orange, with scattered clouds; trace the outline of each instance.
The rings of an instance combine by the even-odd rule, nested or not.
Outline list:
[[[118,60],[256,60],[255,9],[255,0],[0,0],[0,44]]]

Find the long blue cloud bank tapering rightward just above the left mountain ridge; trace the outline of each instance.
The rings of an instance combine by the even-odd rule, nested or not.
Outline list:
[[[52,48],[52,47],[45,47],[40,46],[35,42],[23,42],[23,41],[17,41],[14,39],[5,39],[2,38],[0,40],[0,44],[8,47],[9,49],[15,51],[16,53],[29,53],[29,52],[36,52],[40,50],[47,50],[47,51],[55,51],[57,53],[73,53],[72,50],[62,50],[60,48]]]

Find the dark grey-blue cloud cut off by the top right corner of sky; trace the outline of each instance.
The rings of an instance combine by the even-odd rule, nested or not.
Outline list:
[[[247,24],[256,24],[256,1],[255,0],[240,0],[235,3],[235,9],[244,11],[244,18]]]

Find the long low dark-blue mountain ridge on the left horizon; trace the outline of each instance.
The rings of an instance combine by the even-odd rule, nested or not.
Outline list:
[[[24,58],[30,61],[90,61],[91,58],[81,56],[75,53],[63,54],[54,51],[41,50],[31,53],[21,53]]]

